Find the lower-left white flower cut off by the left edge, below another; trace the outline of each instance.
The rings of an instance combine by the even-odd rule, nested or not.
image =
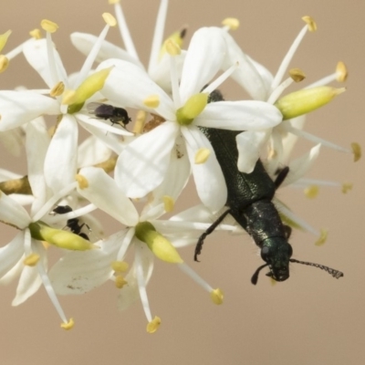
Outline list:
[[[7,245],[0,248],[0,277],[3,283],[20,274],[13,305],[23,303],[42,285],[62,318],[64,328],[72,327],[68,321],[47,276],[47,255],[44,245],[31,237],[29,225],[40,219],[47,221],[47,214],[55,203],[63,197],[62,192],[52,196],[44,174],[43,164],[49,137],[45,125],[34,120],[26,126],[26,152],[28,180],[33,193],[31,213],[28,214],[20,203],[1,193],[0,220],[17,227],[20,232]]]

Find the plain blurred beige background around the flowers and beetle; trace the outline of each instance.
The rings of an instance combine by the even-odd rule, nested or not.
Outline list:
[[[123,3],[146,62],[159,1]],[[2,5],[0,30],[14,32],[5,51],[25,40],[26,31],[47,17],[60,26],[54,39],[69,72],[78,70],[83,58],[71,47],[68,34],[98,34],[100,14],[111,11],[106,2],[95,0],[2,0]],[[360,0],[172,0],[166,34],[189,24],[190,38],[198,26],[216,26],[225,16],[236,16],[241,27],[235,37],[250,56],[275,72],[302,26],[300,17],[314,16],[318,33],[306,37],[291,66],[303,68],[311,82],[343,60],[350,76],[348,92],[313,113],[307,130],[340,145],[351,141],[364,145],[364,10]],[[115,30],[108,39],[120,44]],[[22,57],[0,80],[1,89],[18,84],[44,87]],[[237,89],[225,86],[223,90],[227,98],[239,97]],[[22,158],[9,162],[4,150],[0,152],[1,167],[26,173]],[[313,245],[312,235],[294,233],[295,257],[343,270],[343,278],[335,280],[318,269],[292,265],[287,282],[272,287],[262,275],[253,287],[250,277],[261,259],[250,238],[215,234],[204,246],[201,264],[193,263],[193,247],[183,255],[212,285],[224,289],[224,305],[214,306],[179,270],[158,262],[148,287],[152,312],[162,318],[162,327],[154,335],[145,333],[140,303],[118,312],[111,283],[83,297],[60,297],[66,313],[76,320],[68,332],[58,327],[59,318],[43,288],[24,305],[12,308],[16,286],[1,287],[0,364],[364,363],[364,162],[351,161],[349,155],[323,148],[310,173],[313,178],[353,182],[354,189],[347,195],[326,188],[318,199],[309,201],[299,190],[279,193],[310,224],[329,229],[328,243],[322,247]],[[1,229],[1,245],[5,245],[14,231]]]

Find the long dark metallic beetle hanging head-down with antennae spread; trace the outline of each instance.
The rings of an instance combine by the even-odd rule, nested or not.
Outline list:
[[[223,100],[223,96],[219,90],[214,90],[208,98],[208,102],[220,100]],[[315,266],[336,278],[343,276],[343,273],[328,266],[291,258],[293,249],[287,243],[291,228],[283,224],[274,203],[272,203],[276,189],[287,177],[288,167],[277,173],[274,182],[260,160],[256,162],[253,172],[239,172],[235,137],[240,131],[202,127],[200,130],[211,142],[216,158],[221,165],[228,191],[227,202],[225,203],[228,209],[200,236],[195,247],[194,260],[198,261],[197,257],[201,254],[204,238],[214,232],[214,229],[227,214],[231,214],[235,221],[252,236],[255,244],[261,249],[262,259],[266,262],[265,265],[258,267],[252,276],[251,282],[254,285],[257,283],[260,270],[266,266],[270,270],[266,276],[270,276],[276,281],[287,280],[289,263]]]

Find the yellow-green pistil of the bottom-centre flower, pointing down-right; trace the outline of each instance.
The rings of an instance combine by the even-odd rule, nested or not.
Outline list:
[[[172,264],[182,264],[183,259],[180,257],[172,243],[156,231],[150,222],[140,222],[136,225],[136,237],[148,245],[151,252],[162,261]]]

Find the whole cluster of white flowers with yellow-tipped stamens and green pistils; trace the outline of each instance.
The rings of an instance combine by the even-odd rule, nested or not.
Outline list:
[[[145,68],[119,2],[112,3],[116,17],[103,15],[106,26],[99,36],[71,34],[73,45],[86,55],[75,74],[68,75],[63,66],[53,43],[57,24],[49,20],[41,22],[44,38],[42,31],[34,30],[30,39],[0,57],[5,71],[12,58],[23,54],[47,84],[46,89],[0,90],[0,141],[11,153],[24,146],[27,162],[24,176],[0,171],[0,221],[17,229],[14,239],[0,247],[0,282],[20,276],[15,306],[43,285],[61,327],[68,329],[74,322],[57,295],[83,294],[111,280],[119,290],[120,309],[141,298],[152,333],[161,322],[152,316],[147,296],[155,257],[182,269],[215,304],[223,301],[222,291],[207,284],[178,252],[197,243],[227,201],[224,173],[203,130],[235,131],[232,149],[238,151],[239,172],[253,172],[261,159],[275,181],[277,172],[288,166],[280,186],[311,185],[308,195],[313,195],[321,183],[336,184],[304,180],[320,145],[351,150],[304,131],[306,114],[344,91],[328,83],[345,81],[347,71],[340,62],[334,73],[281,98],[293,81],[305,78],[302,70],[291,69],[283,80],[301,39],[316,30],[313,19],[303,18],[305,26],[273,76],[230,35],[238,27],[234,18],[220,27],[196,30],[186,50],[186,29],[163,40],[168,0],[161,2]],[[125,49],[105,39],[111,26],[119,26]],[[0,36],[0,51],[9,35]],[[227,78],[250,99],[215,100]],[[81,143],[79,130],[87,133]],[[315,146],[291,161],[297,137]],[[352,152],[355,160],[360,158],[356,143]],[[200,204],[164,218],[174,211],[191,176]],[[286,205],[275,202],[286,222],[320,236]],[[120,223],[111,235],[105,235],[90,214],[97,209]],[[229,219],[216,225],[243,232]],[[49,245],[59,252],[53,266],[47,264]]]

